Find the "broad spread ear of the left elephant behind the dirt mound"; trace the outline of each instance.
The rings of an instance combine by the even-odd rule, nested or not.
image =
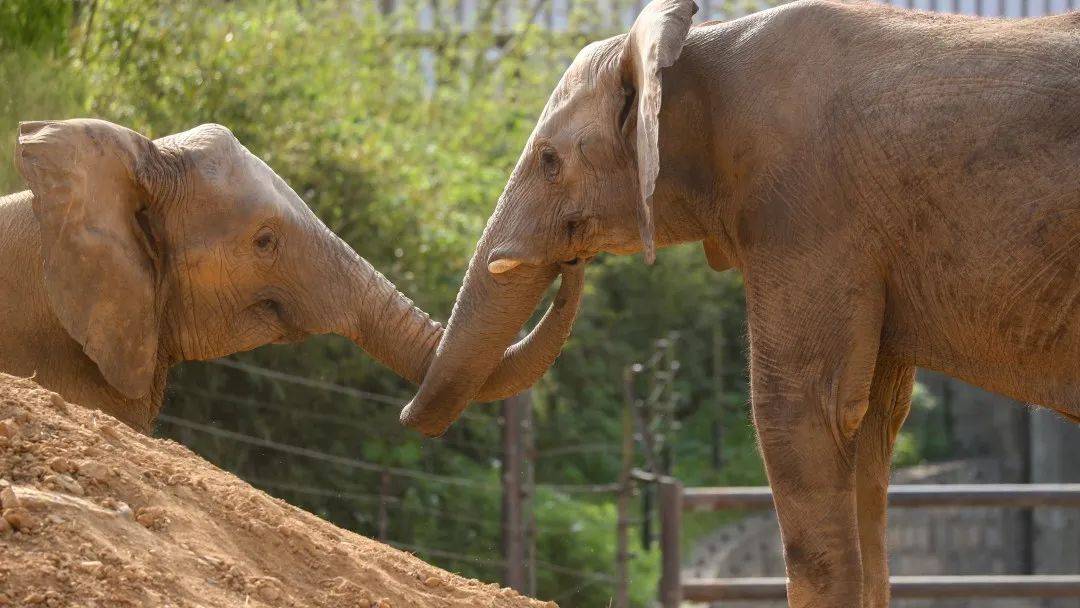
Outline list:
[[[146,137],[99,120],[24,122],[15,164],[33,192],[53,313],[102,376],[130,398],[149,393],[158,313],[149,239],[138,213]]]

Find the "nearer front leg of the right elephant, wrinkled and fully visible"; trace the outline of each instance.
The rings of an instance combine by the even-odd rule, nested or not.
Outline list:
[[[747,281],[754,424],[793,608],[862,605],[855,440],[869,403],[882,301],[873,288],[804,282],[770,294]]]

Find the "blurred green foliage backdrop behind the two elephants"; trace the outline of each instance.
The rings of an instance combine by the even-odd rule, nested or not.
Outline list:
[[[700,19],[761,6],[701,4]],[[915,4],[1018,16],[1059,12],[1068,0]],[[625,31],[638,9],[619,0],[3,0],[0,158],[11,158],[19,120],[93,116],[151,137],[225,124],[361,255],[446,319],[562,71],[586,42]],[[12,163],[0,163],[0,191],[23,188]],[[673,340],[677,370],[672,379],[647,371],[638,384],[643,393],[670,384],[653,428],[665,440],[661,465],[687,485],[765,476],[747,419],[741,278],[708,270],[698,246],[665,249],[654,268],[602,256],[588,274],[573,336],[530,395],[525,470],[536,483],[524,584],[563,606],[593,607],[607,606],[615,586],[623,373],[658,339]],[[990,459],[1005,471],[1001,481],[1080,473],[1076,429],[926,380],[899,464]],[[500,408],[474,406],[446,437],[420,441],[397,424],[411,391],[351,342],[320,337],[179,366],[156,432],[342,527],[501,580]],[[635,464],[646,465],[643,454]],[[649,513],[635,496],[635,605],[656,593],[658,554],[643,542]],[[734,517],[690,519],[684,544],[705,551],[692,541]],[[1075,518],[1017,517],[1027,527],[1002,548],[1011,552],[1002,571],[1048,571],[1048,563],[1080,571]],[[1039,562],[1041,551],[1061,556]]]

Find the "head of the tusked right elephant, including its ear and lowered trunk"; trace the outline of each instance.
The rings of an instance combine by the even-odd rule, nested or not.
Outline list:
[[[652,261],[661,76],[696,12],[689,0],[656,0],[629,35],[590,44],[575,58],[484,229],[446,337],[403,423],[428,435],[446,430],[561,265],[642,249]]]

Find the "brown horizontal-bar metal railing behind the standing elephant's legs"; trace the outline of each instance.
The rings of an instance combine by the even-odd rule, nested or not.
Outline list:
[[[681,579],[679,532],[684,511],[771,509],[767,487],[683,488],[671,477],[658,482],[660,502],[660,605],[676,608],[686,599],[784,599],[784,578]],[[897,485],[889,488],[889,505],[910,506],[1076,506],[1080,484]],[[933,597],[1080,597],[1080,575],[891,577],[896,598]]]

